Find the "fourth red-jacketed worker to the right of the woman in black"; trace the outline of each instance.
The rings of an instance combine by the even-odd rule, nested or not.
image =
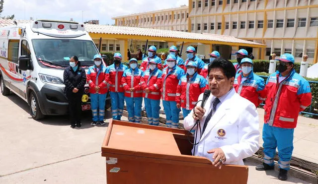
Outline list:
[[[149,69],[146,70],[141,79],[144,90],[145,109],[148,124],[159,125],[160,97],[162,87],[162,71],[158,69],[158,63],[152,59],[149,61]]]

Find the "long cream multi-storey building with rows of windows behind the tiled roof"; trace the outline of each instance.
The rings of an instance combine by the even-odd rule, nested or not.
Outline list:
[[[189,6],[113,19],[119,26],[229,35],[266,45],[245,47],[255,59],[275,52],[290,53],[298,62],[305,54],[311,63],[318,60],[318,0],[189,0]],[[212,46],[227,57],[240,48]]]

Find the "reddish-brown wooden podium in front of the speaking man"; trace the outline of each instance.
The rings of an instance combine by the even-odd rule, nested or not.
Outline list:
[[[246,184],[247,166],[191,156],[188,131],[112,120],[101,151],[107,184]],[[193,136],[190,137],[193,142]]]

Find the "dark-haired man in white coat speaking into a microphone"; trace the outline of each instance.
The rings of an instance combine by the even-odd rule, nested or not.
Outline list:
[[[230,61],[216,59],[209,65],[208,74],[211,95],[204,108],[199,102],[184,119],[187,130],[200,121],[202,136],[198,129],[194,155],[208,158],[220,169],[222,164],[244,165],[242,159],[259,148],[255,105],[239,96],[233,88],[236,70]],[[198,101],[202,98],[203,94]]]

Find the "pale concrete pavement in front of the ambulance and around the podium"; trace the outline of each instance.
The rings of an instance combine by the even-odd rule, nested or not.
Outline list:
[[[67,116],[34,121],[23,100],[0,95],[0,184],[104,184],[100,147],[107,124],[92,127],[90,114],[84,115],[83,126],[75,129]],[[292,177],[282,182],[275,171],[256,172],[254,163],[246,165],[249,184],[307,184]]]

